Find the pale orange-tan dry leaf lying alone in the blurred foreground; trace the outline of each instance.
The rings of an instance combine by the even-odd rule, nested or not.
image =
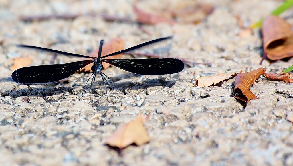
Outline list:
[[[122,149],[133,143],[139,146],[149,142],[143,123],[144,118],[139,114],[137,118],[115,130],[104,144]]]

